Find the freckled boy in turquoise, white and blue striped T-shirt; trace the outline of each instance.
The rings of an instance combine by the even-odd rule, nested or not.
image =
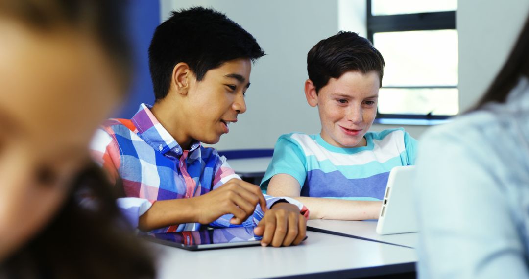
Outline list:
[[[380,52],[358,34],[318,42],[308,52],[305,96],[318,107],[321,132],[280,136],[261,189],[303,202],[311,219],[377,219],[389,171],[413,165],[417,145],[402,128],[368,132],[383,69]]]

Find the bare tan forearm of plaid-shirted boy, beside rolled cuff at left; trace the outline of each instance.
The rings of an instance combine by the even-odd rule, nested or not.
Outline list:
[[[142,231],[168,227],[172,225],[196,222],[196,207],[193,199],[162,200],[140,216],[138,227]]]

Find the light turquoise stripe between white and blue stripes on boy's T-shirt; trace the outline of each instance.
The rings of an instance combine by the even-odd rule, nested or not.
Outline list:
[[[333,171],[340,171],[347,179],[358,179],[368,178],[379,173],[385,173],[391,171],[395,166],[403,165],[403,158],[406,157],[406,153],[402,152],[399,155],[389,159],[388,161],[381,163],[378,161],[372,161],[363,165],[334,165],[330,160],[318,161],[316,156],[311,155],[306,157],[307,169],[322,170],[325,173]],[[404,160],[406,162],[407,160]]]

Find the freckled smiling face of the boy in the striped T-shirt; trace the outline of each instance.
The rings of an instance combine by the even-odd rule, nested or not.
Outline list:
[[[377,115],[378,73],[345,72],[338,79],[331,78],[317,95],[311,85],[307,80],[306,97],[309,105],[318,106],[322,138],[338,147],[366,146],[363,136]]]

